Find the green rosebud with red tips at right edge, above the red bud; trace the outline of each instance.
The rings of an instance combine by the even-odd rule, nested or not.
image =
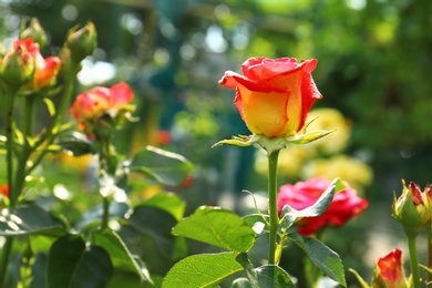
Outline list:
[[[398,199],[394,196],[393,217],[415,234],[431,218],[432,185],[425,187],[424,193],[413,182],[405,186],[402,179],[402,195]]]

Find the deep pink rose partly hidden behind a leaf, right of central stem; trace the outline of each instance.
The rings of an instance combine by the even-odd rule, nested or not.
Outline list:
[[[348,186],[347,183],[344,184]],[[313,205],[329,185],[330,182],[322,177],[298,182],[295,185],[282,185],[278,194],[279,214],[285,205],[297,210]],[[368,207],[368,200],[357,196],[356,189],[348,186],[335,194],[330,206],[322,215],[302,218],[298,223],[298,232],[302,235],[311,235],[323,226],[342,226],[352,217],[360,215]]]

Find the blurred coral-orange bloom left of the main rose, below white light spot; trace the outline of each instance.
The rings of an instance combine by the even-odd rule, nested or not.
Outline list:
[[[105,117],[114,122],[123,119],[130,120],[133,106],[128,103],[133,97],[131,88],[124,82],[115,84],[111,89],[96,86],[78,95],[70,112],[79,122],[79,128],[92,138],[95,130],[111,125]]]

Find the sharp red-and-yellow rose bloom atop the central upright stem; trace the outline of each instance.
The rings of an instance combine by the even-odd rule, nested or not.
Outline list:
[[[235,105],[250,132],[284,137],[299,132],[317,99],[321,99],[311,72],[317,60],[251,58],[239,75],[227,71],[219,84],[237,90]]]

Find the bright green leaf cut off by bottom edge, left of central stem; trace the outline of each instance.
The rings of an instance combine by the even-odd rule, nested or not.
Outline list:
[[[194,255],[171,268],[162,288],[217,287],[217,284],[241,269],[234,253]]]

